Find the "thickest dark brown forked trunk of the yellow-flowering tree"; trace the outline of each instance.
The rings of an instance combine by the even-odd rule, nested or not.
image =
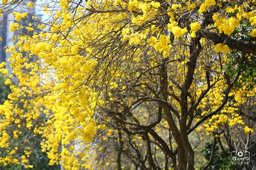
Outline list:
[[[166,115],[166,120],[170,125],[173,137],[178,145],[178,169],[194,169],[194,151],[190,142],[188,140],[187,133],[187,118],[188,118],[188,90],[193,82],[194,70],[196,69],[197,58],[201,52],[200,38],[193,39],[190,45],[190,62],[187,63],[187,73],[185,76],[185,81],[181,87],[180,94],[180,106],[181,106],[181,116],[179,120],[179,129],[172,117],[171,111],[168,106],[164,105],[164,113]],[[166,60],[164,60],[166,62]],[[167,66],[163,65],[160,69],[160,82],[161,90],[164,99],[167,101]],[[191,115],[192,116],[192,115]]]

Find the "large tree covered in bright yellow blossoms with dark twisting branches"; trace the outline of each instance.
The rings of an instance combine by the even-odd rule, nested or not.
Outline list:
[[[17,5],[38,8],[3,1],[2,13]],[[32,135],[42,137],[49,164],[65,169],[194,169],[202,140],[212,142],[207,169],[216,145],[223,152],[250,148],[253,2],[42,6],[45,21],[12,12],[10,31],[18,36],[6,52],[17,85],[1,106],[0,146],[8,149],[2,164],[31,168],[32,148],[19,151],[12,141],[29,144]],[[241,138],[234,138],[238,132]],[[241,139],[244,146],[237,145]]]

